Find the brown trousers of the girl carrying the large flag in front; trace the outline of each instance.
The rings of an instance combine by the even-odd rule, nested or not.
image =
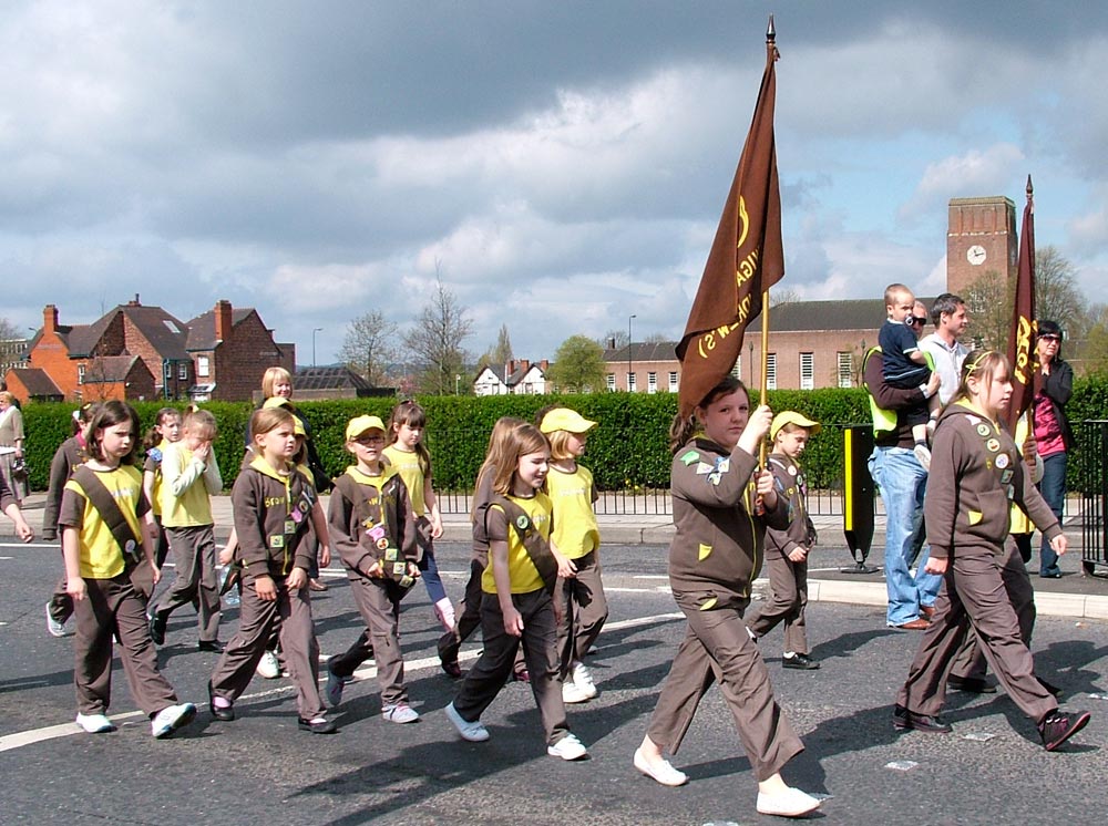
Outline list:
[[[650,716],[647,736],[676,754],[700,698],[717,680],[755,776],[765,781],[804,750],[773,699],[769,671],[736,608],[686,608],[688,630]]]

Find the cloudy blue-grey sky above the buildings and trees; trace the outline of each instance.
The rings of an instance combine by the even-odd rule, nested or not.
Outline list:
[[[770,12],[782,289],[935,295],[947,202],[1018,214],[1030,174],[1038,247],[1104,300],[1105,3],[13,0],[0,317],[228,299],[324,364],[438,277],[474,357],[502,324],[532,361],[628,323],[676,340]]]

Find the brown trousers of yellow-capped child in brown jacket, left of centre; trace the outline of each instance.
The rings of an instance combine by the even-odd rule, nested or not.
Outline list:
[[[400,600],[408,589],[391,579],[351,579],[350,589],[366,631],[347,651],[331,660],[336,677],[350,677],[366,660],[377,661],[381,705],[408,702],[404,660],[400,653]]]

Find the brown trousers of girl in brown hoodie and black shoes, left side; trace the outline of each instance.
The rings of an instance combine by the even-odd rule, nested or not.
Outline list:
[[[243,587],[238,631],[230,638],[212,674],[212,693],[234,702],[246,691],[254,670],[266,651],[274,623],[280,622],[280,647],[289,677],[296,684],[300,716],[312,720],[324,713],[319,696],[319,643],[311,621],[311,598],[305,585],[290,591],[283,579],[274,579],[277,599],[258,599],[253,584]]]

